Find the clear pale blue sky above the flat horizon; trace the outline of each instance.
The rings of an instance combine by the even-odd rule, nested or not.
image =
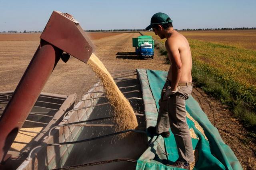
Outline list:
[[[54,10],[84,30],[144,29],[157,12],[178,30],[256,27],[256,0],[0,0],[0,32],[42,31]]]

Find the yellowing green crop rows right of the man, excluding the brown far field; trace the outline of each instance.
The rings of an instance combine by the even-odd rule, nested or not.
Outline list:
[[[153,32],[145,34],[152,35],[164,44],[164,40],[157,38]],[[239,117],[247,127],[254,128],[256,126],[256,96],[254,95],[256,93],[256,51],[196,39],[188,39],[188,42],[192,53],[194,81],[200,82],[201,85],[207,84],[203,85],[205,91],[230,108],[234,108],[236,117]],[[213,85],[214,82],[216,82],[215,85]],[[219,87],[223,90],[217,90]],[[247,106],[248,109],[240,105]]]

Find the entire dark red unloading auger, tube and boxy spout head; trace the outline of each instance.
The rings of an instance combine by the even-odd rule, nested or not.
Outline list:
[[[59,59],[68,60],[63,52],[87,63],[94,49],[79,23],[67,13],[54,11],[40,38],[38,49],[0,117],[1,162]]]

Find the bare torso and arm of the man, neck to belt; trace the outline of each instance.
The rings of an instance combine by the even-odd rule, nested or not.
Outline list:
[[[176,85],[181,82],[192,82],[192,57],[186,38],[175,30],[171,30],[165,42],[171,62],[168,79]]]

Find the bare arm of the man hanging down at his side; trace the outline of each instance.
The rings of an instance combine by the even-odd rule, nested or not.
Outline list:
[[[165,47],[168,51],[170,61],[172,63],[171,69],[172,69],[172,87],[171,91],[176,91],[178,83],[180,81],[181,77],[181,68],[182,68],[182,62],[180,59],[180,52],[178,45],[175,45],[175,43],[172,40],[166,40]]]

